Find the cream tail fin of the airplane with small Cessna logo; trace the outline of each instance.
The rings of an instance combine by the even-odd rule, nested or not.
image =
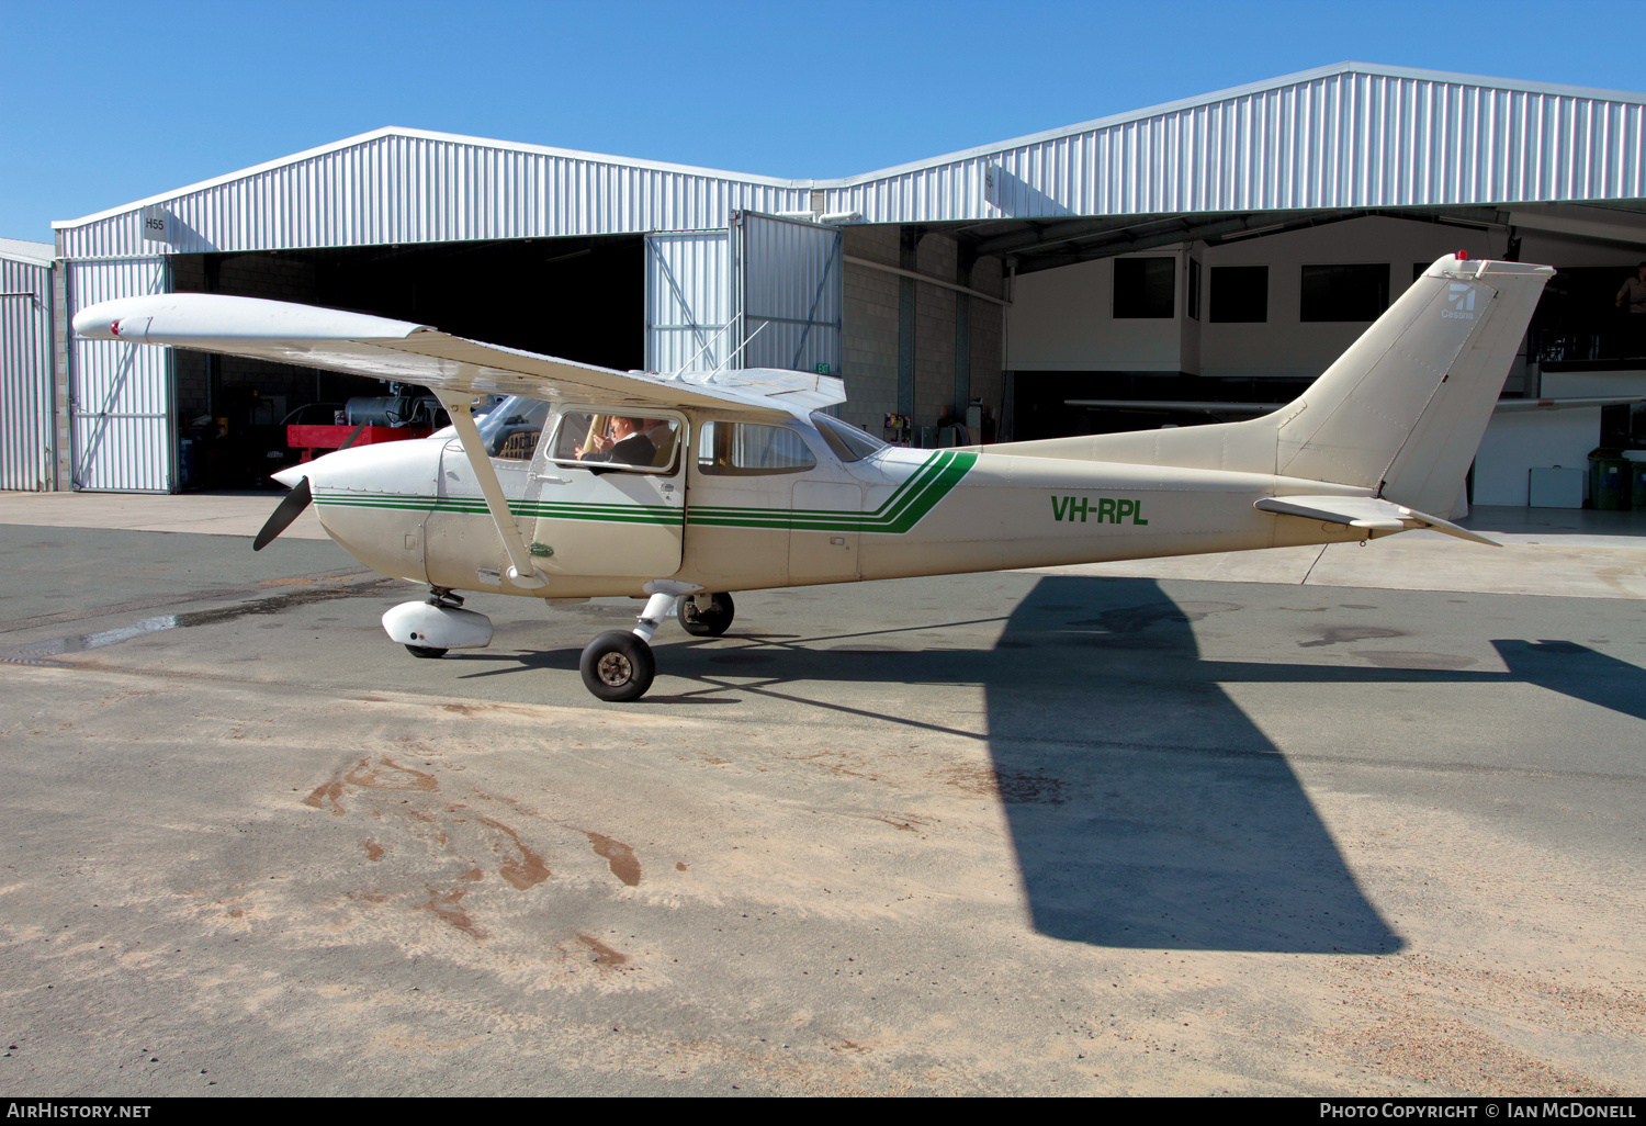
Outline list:
[[[1239,423],[991,446],[1360,486],[1448,514],[1554,270],[1447,255],[1307,392]]]

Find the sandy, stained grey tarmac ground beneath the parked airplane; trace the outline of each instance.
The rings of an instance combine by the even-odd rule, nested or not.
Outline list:
[[[1631,523],[746,593],[602,705],[627,599],[413,660],[268,496],[48,500],[8,1095],[1646,1088]]]

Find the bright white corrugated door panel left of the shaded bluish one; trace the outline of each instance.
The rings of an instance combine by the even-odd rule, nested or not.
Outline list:
[[[645,369],[714,370],[734,347],[731,250],[726,230],[645,239]]]

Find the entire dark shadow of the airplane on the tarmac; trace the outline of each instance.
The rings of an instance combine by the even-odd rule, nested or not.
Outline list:
[[[653,703],[736,691],[978,737],[788,685],[981,682],[1037,930],[1106,947],[1363,955],[1404,943],[1366,900],[1281,747],[1220,683],[1524,682],[1646,719],[1646,672],[1572,642],[1495,640],[1508,673],[1202,658],[1192,622],[1234,609],[1172,601],[1151,579],[1047,576],[993,650],[864,644],[907,630],[854,634],[858,645],[835,649],[813,645],[839,639],[787,635],[739,637],[737,649],[677,642],[660,663],[701,688]],[[576,657],[553,650],[523,665],[574,670]],[[522,668],[520,658],[504,663]]]

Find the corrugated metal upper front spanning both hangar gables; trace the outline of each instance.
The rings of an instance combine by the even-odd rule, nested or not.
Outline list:
[[[1057,221],[1643,198],[1646,94],[1340,63],[843,179],[382,128],[53,227],[82,258],[693,230],[734,209],[986,240]],[[145,207],[170,242],[143,239]]]

